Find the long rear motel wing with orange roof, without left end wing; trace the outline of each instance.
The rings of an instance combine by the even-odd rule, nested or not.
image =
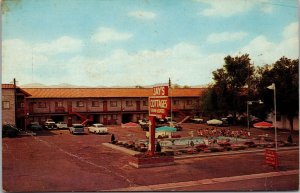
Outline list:
[[[24,88],[28,123],[55,122],[121,124],[148,118],[152,88]],[[174,119],[194,112],[203,88],[170,89]]]

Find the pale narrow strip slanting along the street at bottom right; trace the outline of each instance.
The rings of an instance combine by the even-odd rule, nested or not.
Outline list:
[[[190,186],[217,184],[217,183],[224,183],[224,182],[235,182],[235,181],[269,178],[269,177],[277,177],[277,176],[289,176],[295,174],[299,174],[299,170],[259,173],[259,174],[250,174],[250,175],[241,175],[241,176],[230,176],[230,177],[222,177],[222,178],[211,178],[211,179],[202,179],[196,181],[156,184],[156,185],[148,185],[148,186],[136,186],[136,187],[119,188],[119,189],[105,190],[105,191],[159,191],[159,190],[167,190],[167,189],[190,187]]]

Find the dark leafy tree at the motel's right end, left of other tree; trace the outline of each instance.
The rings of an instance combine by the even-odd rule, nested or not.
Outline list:
[[[217,103],[216,109],[223,112],[232,112],[234,118],[237,112],[245,110],[247,94],[251,91],[251,79],[254,73],[253,64],[250,63],[248,54],[224,58],[223,68],[213,72],[214,85],[211,91],[216,94],[216,99],[211,102]],[[248,86],[248,92],[245,88]],[[244,97],[243,97],[244,96]]]

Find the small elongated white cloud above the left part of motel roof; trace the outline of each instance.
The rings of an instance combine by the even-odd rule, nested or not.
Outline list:
[[[83,43],[79,39],[75,39],[69,36],[62,36],[54,41],[40,43],[35,45],[36,52],[44,54],[59,54],[68,52],[80,51],[83,47]]]

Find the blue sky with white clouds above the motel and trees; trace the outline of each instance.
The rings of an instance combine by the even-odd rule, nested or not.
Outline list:
[[[6,0],[2,83],[204,85],[224,57],[299,57],[297,0]]]

